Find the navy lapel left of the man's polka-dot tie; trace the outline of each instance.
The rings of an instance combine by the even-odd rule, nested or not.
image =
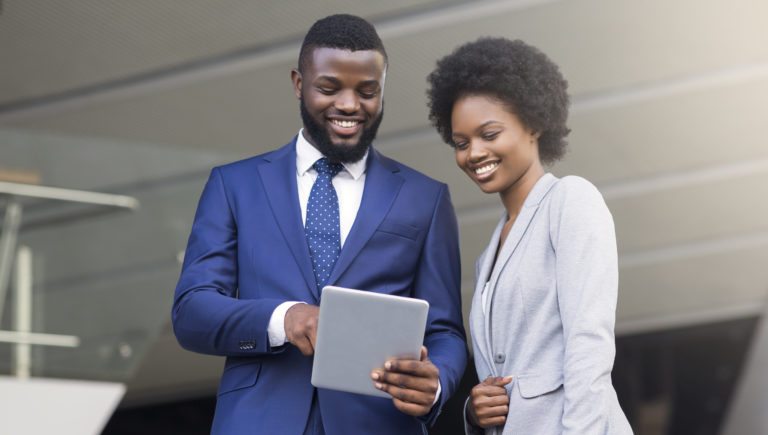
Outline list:
[[[301,222],[299,190],[296,185],[296,139],[281,150],[264,156],[264,159],[269,163],[259,165],[258,170],[275,221],[299,265],[307,288],[316,296],[317,285],[304,235],[304,224]]]

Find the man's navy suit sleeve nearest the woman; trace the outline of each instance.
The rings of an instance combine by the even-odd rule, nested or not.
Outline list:
[[[441,186],[424,242],[415,280],[417,298],[429,302],[424,345],[440,370],[442,394],[421,420],[434,424],[442,406],[456,391],[467,363],[467,344],[461,316],[461,260],[456,213],[445,185]]]

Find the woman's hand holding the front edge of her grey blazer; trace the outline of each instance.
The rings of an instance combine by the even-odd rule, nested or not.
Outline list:
[[[467,404],[467,414],[472,424],[488,429],[507,421],[509,397],[504,386],[510,382],[511,376],[488,377],[472,388]]]

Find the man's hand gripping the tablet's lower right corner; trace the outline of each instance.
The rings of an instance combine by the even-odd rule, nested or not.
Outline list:
[[[427,348],[421,347],[421,360],[390,360],[384,369],[371,372],[376,388],[392,396],[392,403],[401,412],[416,417],[432,409],[437,394],[440,370],[427,358]]]

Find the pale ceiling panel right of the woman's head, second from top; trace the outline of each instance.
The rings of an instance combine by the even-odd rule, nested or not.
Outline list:
[[[768,76],[574,113],[558,170],[594,182],[768,157]]]

